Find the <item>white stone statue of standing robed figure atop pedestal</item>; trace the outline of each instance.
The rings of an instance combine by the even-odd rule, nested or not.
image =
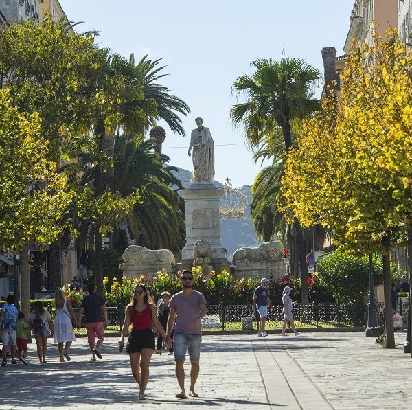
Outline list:
[[[213,182],[214,177],[214,142],[208,128],[203,126],[203,119],[195,119],[197,128],[190,135],[188,155],[193,148],[193,172],[191,182]]]

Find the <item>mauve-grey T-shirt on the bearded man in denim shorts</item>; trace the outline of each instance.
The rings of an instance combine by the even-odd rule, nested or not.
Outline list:
[[[190,297],[184,297],[183,291],[173,295],[169,306],[176,309],[174,333],[202,334],[201,323],[194,323],[193,319],[198,317],[201,305],[205,304],[205,296],[198,291],[193,291]]]

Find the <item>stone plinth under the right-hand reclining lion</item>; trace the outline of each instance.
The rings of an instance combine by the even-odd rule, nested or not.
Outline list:
[[[258,279],[273,276],[273,279],[280,279],[286,274],[284,260],[278,262],[238,262],[230,266],[230,271],[235,278],[252,277]]]

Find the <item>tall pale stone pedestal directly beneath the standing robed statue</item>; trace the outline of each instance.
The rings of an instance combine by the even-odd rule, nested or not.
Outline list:
[[[211,247],[211,265],[229,266],[226,249],[220,239],[220,196],[222,188],[211,183],[192,183],[180,191],[185,198],[186,245],[182,249],[179,269],[190,269],[193,264],[193,247],[199,239],[209,242]]]

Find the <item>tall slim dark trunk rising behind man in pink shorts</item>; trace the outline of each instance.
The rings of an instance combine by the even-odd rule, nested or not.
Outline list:
[[[104,120],[100,120],[96,126],[96,137],[98,144],[102,148],[102,139],[104,136]],[[95,166],[95,198],[102,196],[102,162],[98,159]],[[103,269],[102,269],[102,233],[100,232],[100,219],[95,219],[95,285],[98,293],[103,294]]]

